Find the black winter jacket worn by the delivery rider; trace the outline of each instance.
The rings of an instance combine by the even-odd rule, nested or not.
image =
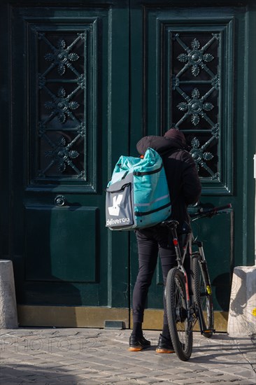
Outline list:
[[[201,195],[201,182],[195,162],[182,141],[167,137],[143,137],[137,143],[138,153],[153,148],[162,156],[171,196],[171,218],[183,225],[190,222],[188,204],[195,204]]]

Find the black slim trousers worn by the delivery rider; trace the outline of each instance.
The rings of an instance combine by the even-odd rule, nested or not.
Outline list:
[[[158,255],[161,260],[165,286],[169,269],[176,266],[176,253],[173,243],[169,239],[168,229],[162,226],[157,225],[153,228],[136,230],[136,239],[138,244],[138,275],[134,286],[132,314],[134,322],[143,322],[145,301],[157,265]],[[167,324],[164,295],[163,302],[164,323]]]

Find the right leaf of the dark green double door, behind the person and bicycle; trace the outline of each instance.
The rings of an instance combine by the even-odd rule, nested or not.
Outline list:
[[[201,176],[204,207],[229,214],[197,222],[225,330],[234,265],[253,264],[255,5],[252,1],[131,0],[131,154],[147,134],[182,130]],[[255,102],[255,99],[254,99]],[[250,123],[249,123],[250,122]],[[137,272],[131,239],[131,287]],[[144,328],[162,326],[158,265]]]

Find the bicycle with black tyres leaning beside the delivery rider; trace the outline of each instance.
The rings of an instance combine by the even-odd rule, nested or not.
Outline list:
[[[211,218],[230,209],[231,204],[213,209],[199,209],[190,214],[191,221],[199,218]],[[169,270],[166,278],[166,312],[173,348],[180,360],[190,359],[192,353],[192,330],[197,320],[204,337],[210,338],[214,330],[213,295],[208,274],[207,262],[201,241],[194,239],[192,229],[183,228],[183,241],[179,244],[178,221],[166,220],[162,225],[169,228],[176,251],[177,266]],[[192,251],[192,246],[196,251]],[[185,260],[185,257],[187,258]],[[187,272],[184,262],[188,262]]]

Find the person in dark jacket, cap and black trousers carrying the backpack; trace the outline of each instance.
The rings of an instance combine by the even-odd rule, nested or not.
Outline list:
[[[166,173],[171,197],[171,218],[178,221],[179,226],[190,223],[187,206],[195,204],[201,195],[201,182],[195,162],[186,151],[186,141],[182,132],[171,129],[164,137],[143,137],[137,144],[138,153],[145,154],[147,148],[153,148],[161,156]],[[178,231],[180,229],[178,228]],[[169,241],[168,229],[161,225],[136,230],[138,244],[138,275],[133,293],[133,330],[129,338],[129,350],[140,351],[150,346],[150,341],[143,337],[142,323],[145,300],[152,275],[157,265],[157,257],[161,260],[164,285],[169,269],[176,265],[176,253],[173,244]],[[162,333],[159,335],[157,353],[173,353],[171,336],[166,317],[164,299],[164,321]]]

